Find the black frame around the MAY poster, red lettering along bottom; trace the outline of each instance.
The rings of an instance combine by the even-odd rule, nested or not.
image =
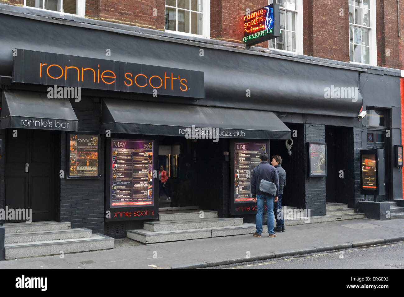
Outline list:
[[[105,160],[109,160],[111,156],[111,141],[112,139],[128,139],[130,141],[142,141],[142,140],[153,140],[153,156],[158,154],[158,137],[151,137],[150,135],[127,135],[122,133],[112,133],[111,137],[107,137],[105,141]],[[153,171],[157,170],[158,162],[153,162]],[[153,184],[158,187],[158,177],[153,177]],[[127,206],[127,207],[111,207],[111,162],[105,162],[105,222],[115,222],[115,221],[137,221],[137,220],[149,220],[158,219],[158,198],[154,196],[153,206]],[[136,211],[138,215],[133,215]],[[140,214],[139,214],[140,212]],[[142,215],[142,212],[146,212],[147,215]],[[120,213],[120,215],[115,215],[115,213]],[[132,213],[130,216],[123,216],[123,213]]]

